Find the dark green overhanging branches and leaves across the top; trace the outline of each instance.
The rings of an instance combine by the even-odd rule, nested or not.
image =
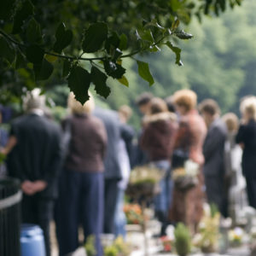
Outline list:
[[[202,14],[218,15],[228,4],[233,7],[241,0],[3,0],[0,101],[17,102],[36,85],[47,89],[64,79],[80,102],[88,99],[90,84],[107,97],[108,78],[129,85],[123,59],[166,45],[182,65],[174,41],[191,35],[180,28],[179,20],[189,24],[193,16],[201,20]],[[148,63],[135,63],[137,73],[154,84]]]

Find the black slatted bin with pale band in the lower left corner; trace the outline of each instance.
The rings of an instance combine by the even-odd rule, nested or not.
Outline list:
[[[0,255],[20,256],[20,182],[0,179]]]

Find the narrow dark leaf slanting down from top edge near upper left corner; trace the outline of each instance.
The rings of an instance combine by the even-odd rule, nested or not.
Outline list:
[[[13,34],[20,33],[21,26],[23,25],[23,21],[33,14],[34,14],[34,6],[32,5],[31,1],[30,0],[24,1],[22,3],[21,8],[18,9],[15,13]]]

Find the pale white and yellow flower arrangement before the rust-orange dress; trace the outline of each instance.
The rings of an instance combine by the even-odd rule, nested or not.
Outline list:
[[[179,190],[188,190],[198,183],[199,165],[192,160],[186,160],[183,167],[172,172],[175,187]]]

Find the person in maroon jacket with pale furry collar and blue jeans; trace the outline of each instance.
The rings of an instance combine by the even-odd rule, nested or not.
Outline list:
[[[165,172],[160,181],[161,192],[155,197],[154,210],[162,223],[160,236],[166,236],[167,214],[172,199],[171,156],[177,131],[176,115],[169,113],[166,102],[153,98],[148,115],[143,119],[141,147],[148,153],[154,166]]]

